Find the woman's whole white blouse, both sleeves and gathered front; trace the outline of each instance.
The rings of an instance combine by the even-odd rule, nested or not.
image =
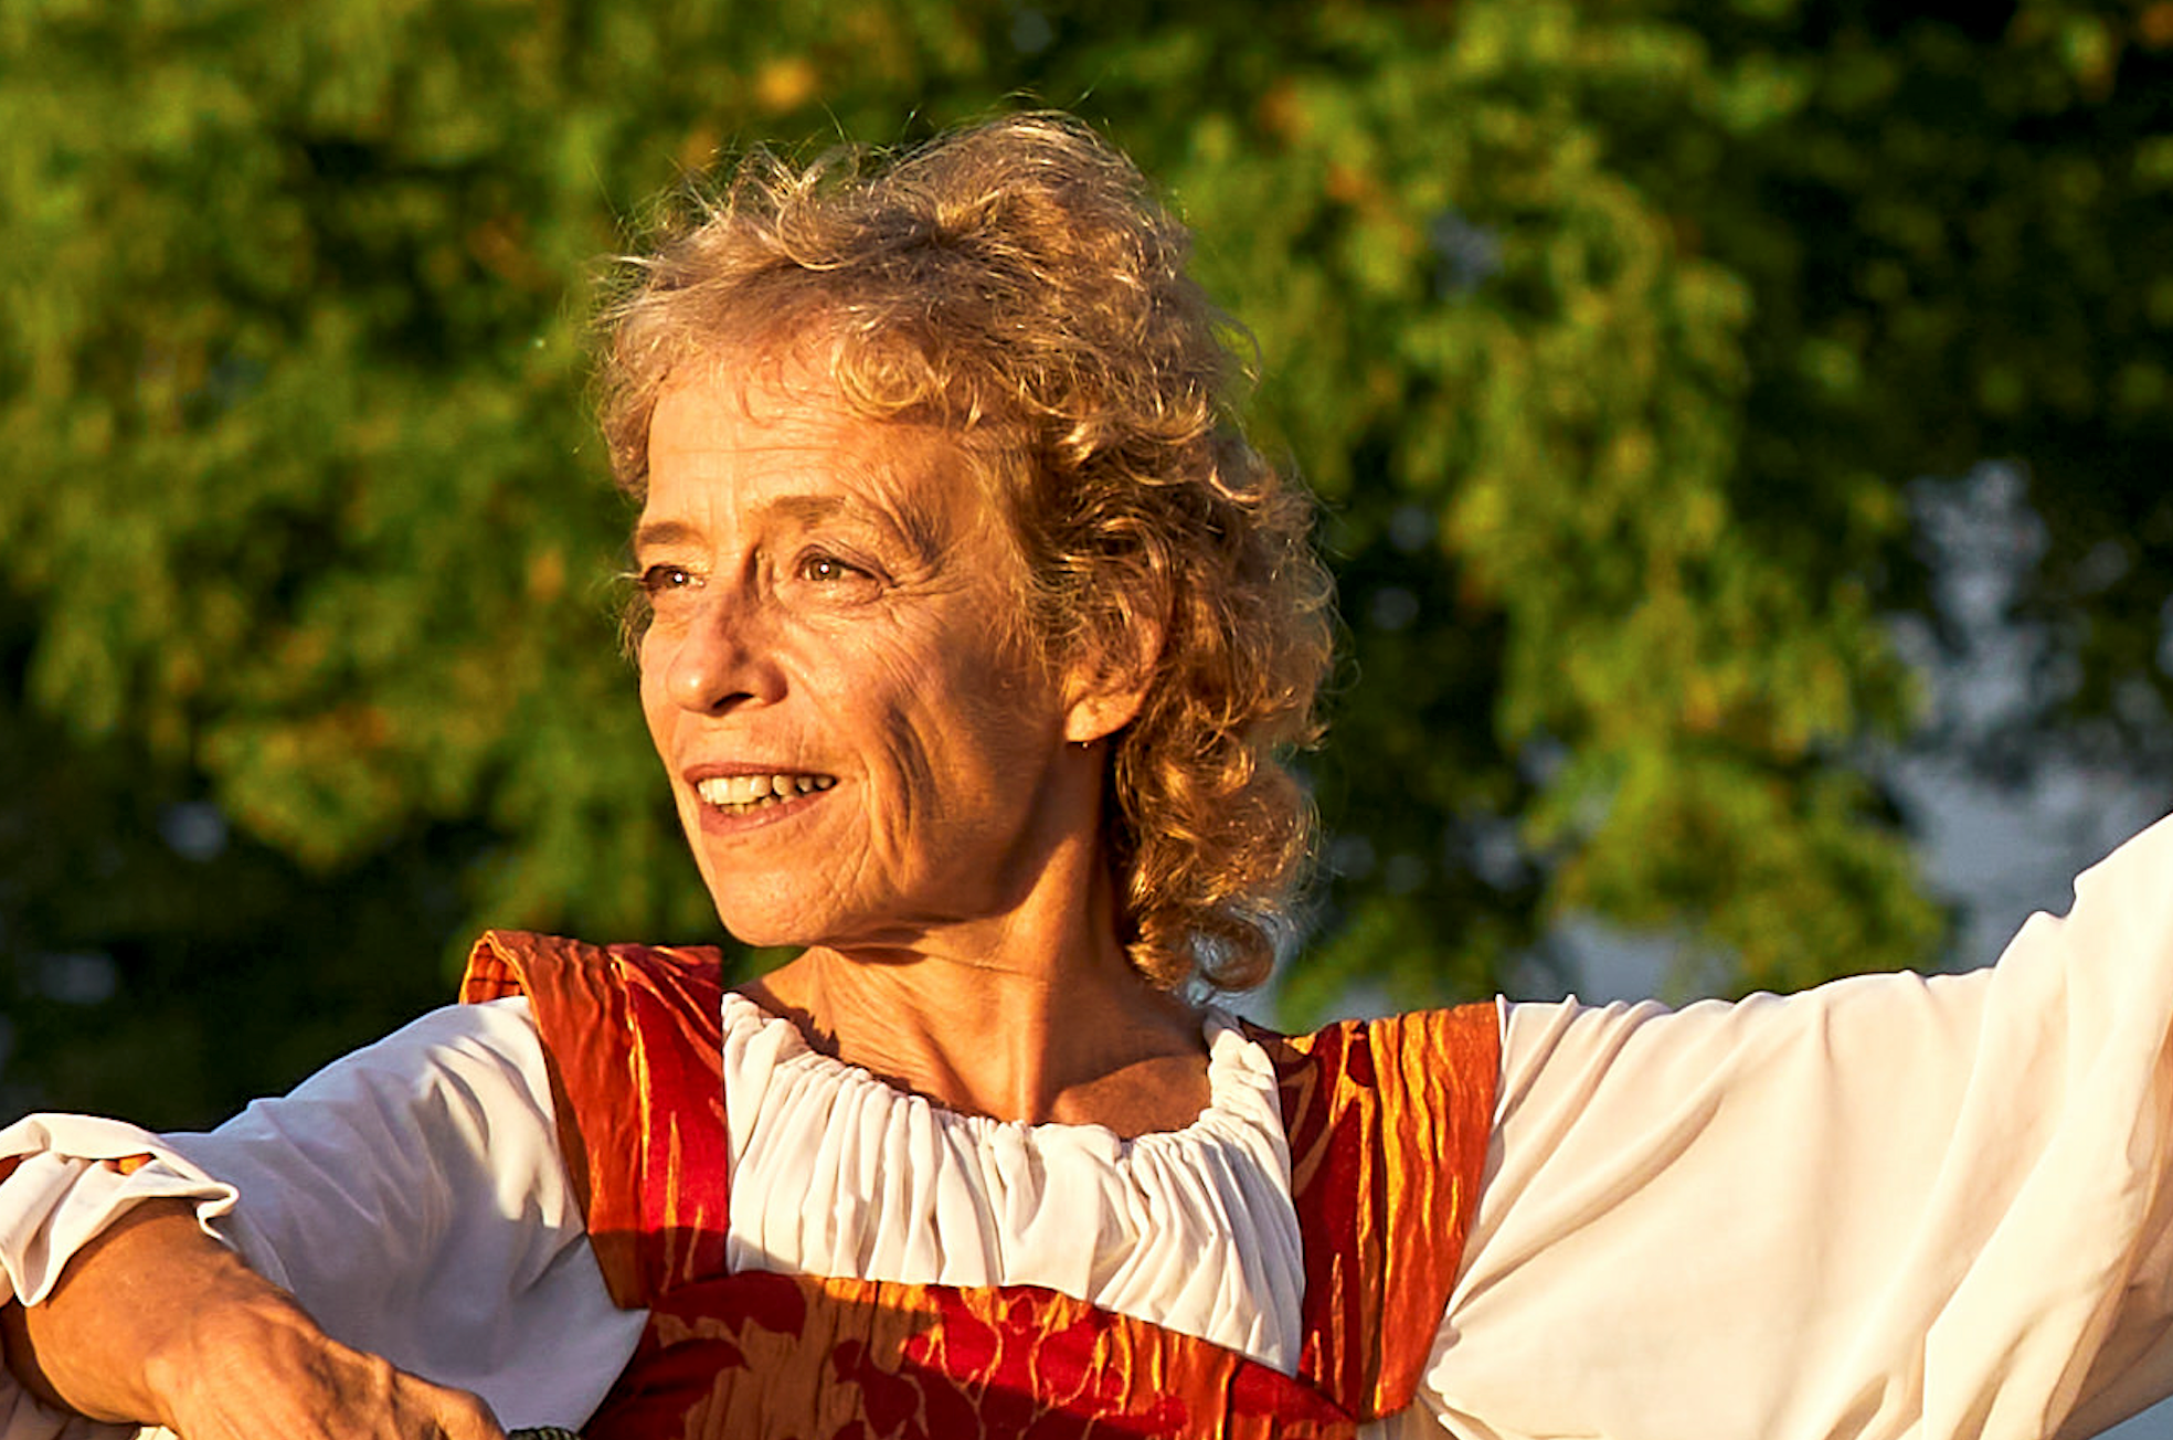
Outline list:
[[[1502,1006],[1465,1266],[1399,1433],[2086,1436],[2173,1390],[2173,823],[1997,969],[1743,1003]],[[1043,1284],[1289,1368],[1304,1266],[1265,1056],[1208,1021],[1182,1132],[958,1116],[726,1006],[730,1258]],[[120,1175],[109,1158],[154,1153]],[[33,1116],[0,1268],[196,1197],[341,1340],[578,1425],[641,1327],[556,1153],[522,1001],[424,1016],[204,1136]],[[239,1199],[237,1199],[239,1197]],[[0,1440],[67,1427],[0,1377]]]

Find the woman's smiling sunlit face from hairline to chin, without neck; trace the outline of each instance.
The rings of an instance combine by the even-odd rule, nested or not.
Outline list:
[[[1008,641],[1023,563],[941,432],[804,365],[674,380],[635,567],[641,704],[726,927],[887,947],[1015,908],[1097,823],[1063,684]]]

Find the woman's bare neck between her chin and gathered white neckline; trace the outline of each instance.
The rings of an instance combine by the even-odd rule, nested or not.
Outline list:
[[[1208,1099],[1199,1016],[1126,960],[1097,847],[1071,860],[1000,921],[817,945],[745,993],[815,1049],[952,1110],[1180,1129]]]

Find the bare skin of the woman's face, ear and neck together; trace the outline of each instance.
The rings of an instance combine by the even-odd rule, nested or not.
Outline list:
[[[954,437],[852,413],[811,350],[728,361],[656,404],[635,565],[641,702],[717,914],[802,949],[748,995],[956,1110],[1189,1125],[1199,1021],[1126,960],[1102,834],[1154,636],[1045,658]]]

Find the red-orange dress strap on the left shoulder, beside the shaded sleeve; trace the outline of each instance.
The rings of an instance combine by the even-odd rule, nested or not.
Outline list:
[[[526,995],[543,1034],[558,1147],[613,1303],[639,1310],[680,1279],[724,1273],[719,953],[491,930],[461,999],[504,995]]]

